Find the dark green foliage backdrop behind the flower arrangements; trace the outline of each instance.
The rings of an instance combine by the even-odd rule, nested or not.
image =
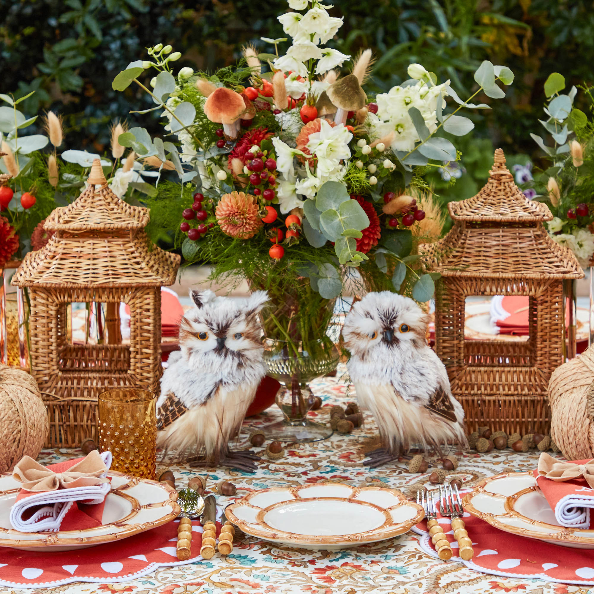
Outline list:
[[[355,54],[371,47],[378,56],[372,90],[387,90],[420,62],[451,78],[461,96],[472,92],[472,72],[483,59],[513,69],[507,100],[475,119],[475,137],[490,139],[508,153],[538,157],[529,132],[538,127],[542,85],[553,71],[572,84],[592,83],[594,11],[591,1],[561,0],[341,0],[344,16],[334,44]],[[108,124],[118,118],[149,124],[157,115],[128,115],[150,106],[135,89],[116,93],[115,74],[143,58],[144,48],[170,43],[188,65],[214,69],[233,64],[245,42],[271,51],[260,36],[280,37],[276,16],[285,0],[0,0],[0,72],[4,93],[23,96],[37,89],[25,110],[53,109],[65,116],[67,145],[101,151]],[[487,99],[488,100],[488,99]],[[146,105],[145,105],[146,104]],[[579,105],[579,100],[578,100]],[[33,127],[28,129],[34,132]],[[491,144],[472,149],[484,170]],[[477,157],[479,151],[482,157]],[[479,176],[480,177],[480,176]]]

